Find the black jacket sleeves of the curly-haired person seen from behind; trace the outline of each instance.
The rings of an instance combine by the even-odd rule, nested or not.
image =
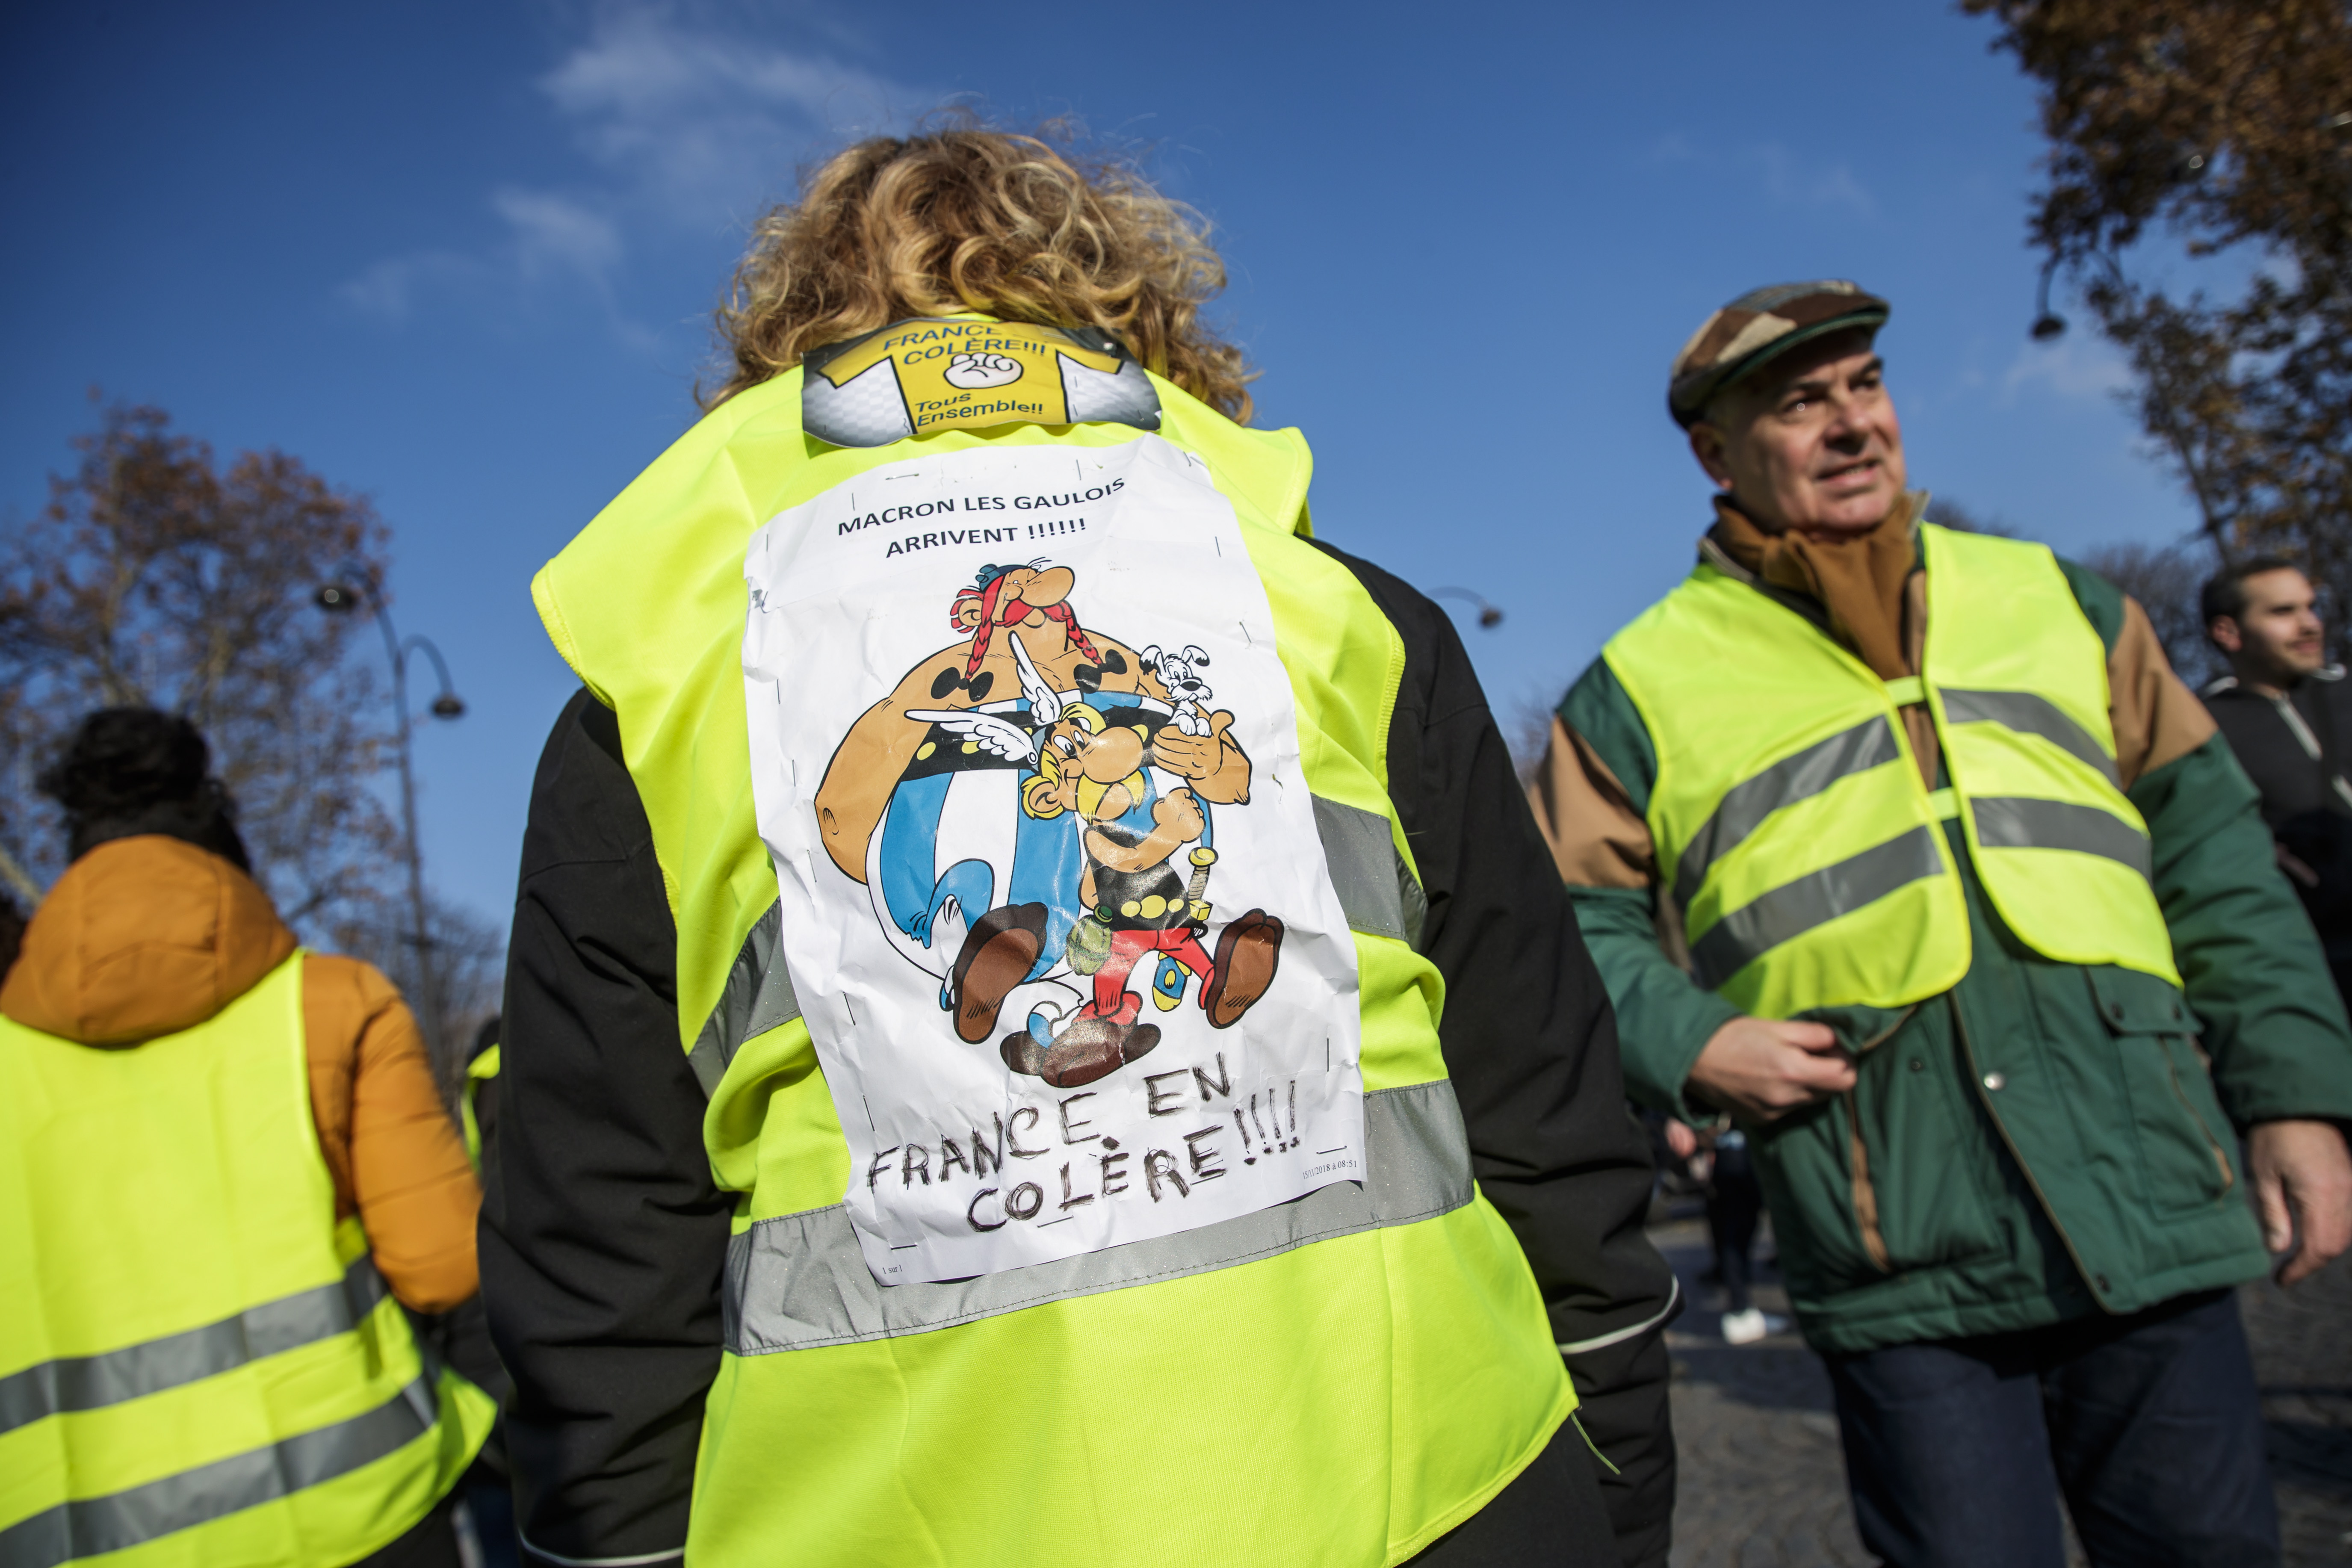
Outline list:
[[[1609,999],[1451,621],[1329,552],[1406,649],[1388,785],[1428,896],[1421,947],[1446,978],[1439,1041],[1479,1190],[1571,1352],[1578,1415],[1616,1467],[1599,1481],[1623,1556],[1663,1563],[1677,1300],[1642,1234],[1649,1140],[1625,1107]],[[619,726],[581,691],[532,785],[482,1206],[482,1295],[515,1378],[520,1526],[560,1559],[682,1547],[720,1366],[734,1197],[703,1154],[675,954]]]

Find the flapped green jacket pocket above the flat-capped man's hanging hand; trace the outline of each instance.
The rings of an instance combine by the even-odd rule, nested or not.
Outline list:
[[[2234,1133],[2190,1039],[2180,992],[2131,969],[2086,969],[2131,1103],[2140,1182],[2159,1213],[2211,1208],[2237,1187]]]

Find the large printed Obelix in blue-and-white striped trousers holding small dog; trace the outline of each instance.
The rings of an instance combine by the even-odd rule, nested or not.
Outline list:
[[[1070,703],[1145,726],[1164,726],[1174,710],[1131,646],[1080,625],[1075,583],[1068,567],[1044,562],[985,567],[948,609],[964,639],[917,661],[858,717],[816,790],[826,853],[866,884],[894,947],[938,976],[941,1009],[971,1044],[995,1034],[1016,987],[1068,973],[1068,936],[1087,917],[1077,820],[1021,809],[1030,736]],[[997,726],[957,726],[967,715]],[[1157,738],[1127,825],[1150,830],[1155,778],[1204,804],[1249,799],[1232,715],[1202,719],[1207,733]]]

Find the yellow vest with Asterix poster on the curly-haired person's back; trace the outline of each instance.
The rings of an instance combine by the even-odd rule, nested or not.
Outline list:
[[[1108,339],[898,322],[539,574],[739,1194],[689,1561],[1399,1563],[1573,1410],[1308,470]]]

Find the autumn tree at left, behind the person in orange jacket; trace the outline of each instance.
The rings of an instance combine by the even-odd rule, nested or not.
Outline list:
[[[381,585],[362,496],[282,451],[226,470],[160,409],[108,407],[80,465],[0,536],[0,877],[24,903],[64,870],[33,776],[92,708],[193,719],[278,910],[308,940],[374,922],[400,839],[372,783],[395,738],[381,691],[325,616],[329,578]]]

